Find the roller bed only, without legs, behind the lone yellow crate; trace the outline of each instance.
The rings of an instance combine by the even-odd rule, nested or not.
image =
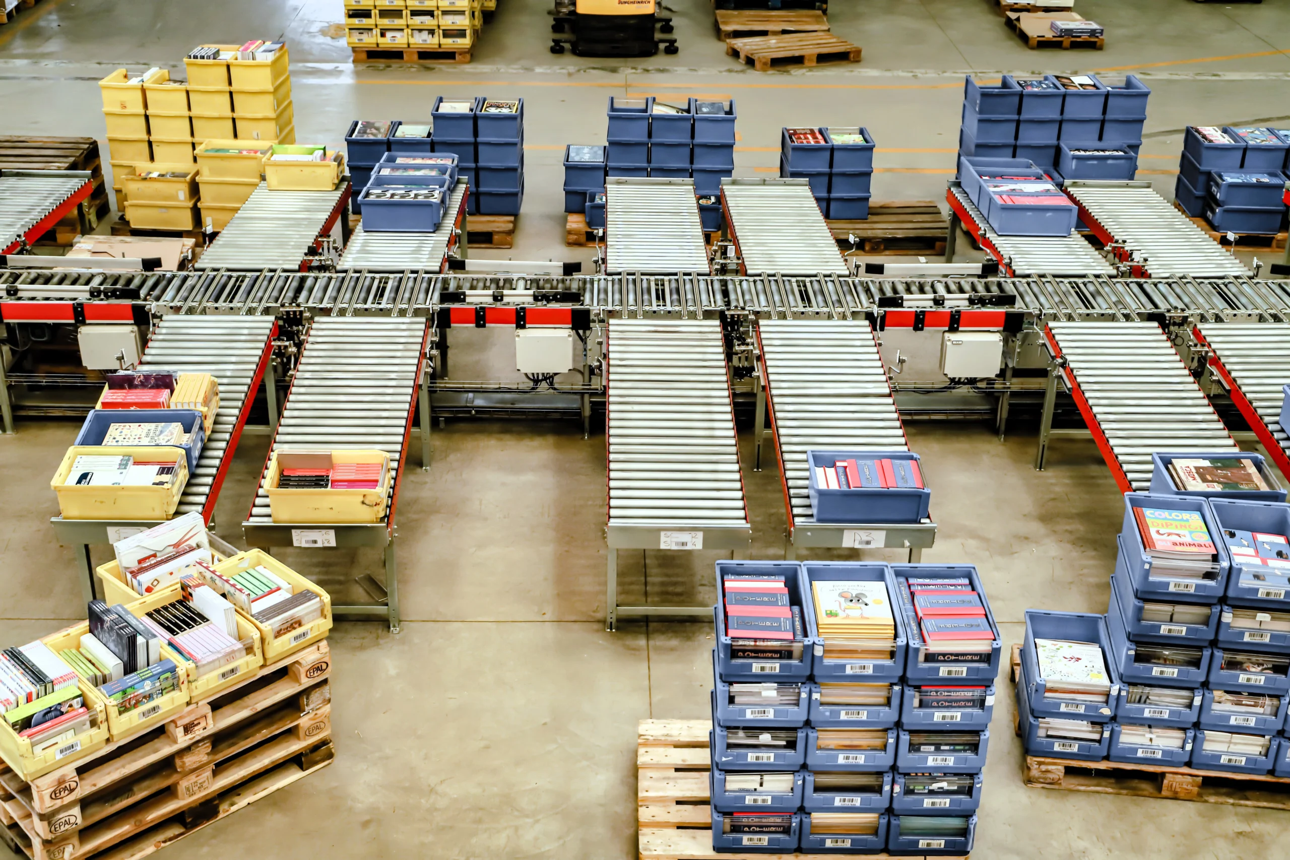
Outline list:
[[[315,320],[283,406],[272,450],[386,451],[395,476],[386,507],[387,522],[392,525],[424,349],[423,318]],[[272,522],[264,489],[267,472],[266,462],[250,523]]]

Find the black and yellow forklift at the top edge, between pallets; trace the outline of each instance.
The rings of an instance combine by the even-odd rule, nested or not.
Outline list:
[[[577,57],[653,57],[663,45],[675,54],[672,17],[658,13],[657,0],[556,0],[551,14],[551,53],[562,54],[569,45]]]

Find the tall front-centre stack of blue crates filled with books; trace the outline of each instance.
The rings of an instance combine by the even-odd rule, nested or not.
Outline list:
[[[1000,663],[975,569],[717,562],[717,580],[713,848],[966,855]]]

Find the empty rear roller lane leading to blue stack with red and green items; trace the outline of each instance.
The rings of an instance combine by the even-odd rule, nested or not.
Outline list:
[[[721,186],[746,275],[850,272],[805,179],[734,179]]]

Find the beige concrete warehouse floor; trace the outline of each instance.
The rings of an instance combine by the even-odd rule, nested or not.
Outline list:
[[[95,81],[114,68],[163,66],[182,76],[183,53],[196,44],[285,37],[302,142],[339,143],[359,116],[424,116],[436,94],[522,95],[528,193],[515,249],[494,254],[587,259],[562,245],[560,156],[565,143],[604,141],[613,94],[737,98],[739,175],[777,171],[783,125],[867,125],[881,147],[876,200],[943,200],[965,72],[1138,72],[1153,89],[1143,174],[1166,197],[1184,125],[1290,113],[1285,3],[1080,0],[1078,12],[1108,32],[1104,52],[1084,53],[1027,50],[991,0],[835,0],[833,31],[862,45],[864,62],[788,73],[755,73],[726,58],[704,0],[672,4],[675,57],[555,57],[547,4],[501,0],[470,66],[356,68],[339,0],[43,0],[0,27],[0,116],[6,134],[102,138]],[[973,257],[966,242],[960,249]],[[453,338],[455,378],[513,376],[508,333]],[[935,333],[902,347],[934,367]],[[28,419],[17,436],[0,437],[5,645],[84,618],[71,549],[48,525],[57,513],[49,477],[77,425]],[[1022,637],[1028,607],[1106,610],[1122,511],[1091,442],[1058,440],[1047,471],[1035,472],[1035,433],[1024,420],[1005,442],[984,424],[908,424],[940,525],[924,561],[978,565],[1009,645]],[[375,623],[332,633],[334,766],[163,856],[635,856],[636,723],[708,714],[712,629],[651,621],[604,630],[602,442],[600,431],[583,440],[571,423],[436,429],[433,468],[406,473],[399,505],[402,633]],[[742,444],[748,463],[747,429]],[[264,436],[244,438],[221,495],[218,530],[235,543],[266,446]],[[784,513],[774,464],[744,478],[749,557],[778,558]],[[328,588],[378,563],[343,551],[283,558]],[[653,602],[711,601],[716,558],[623,553],[623,600],[642,597],[648,567]],[[1286,855],[1287,812],[1024,788],[1013,708],[1001,674],[974,856]]]

